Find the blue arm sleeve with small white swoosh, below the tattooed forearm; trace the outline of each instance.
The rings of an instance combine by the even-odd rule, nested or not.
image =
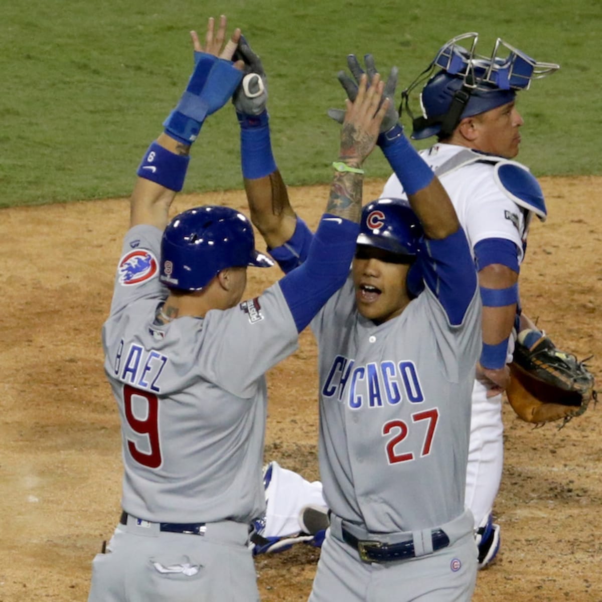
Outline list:
[[[332,294],[345,284],[358,234],[359,224],[324,214],[307,260],[281,279],[280,288],[297,332],[301,332]]]

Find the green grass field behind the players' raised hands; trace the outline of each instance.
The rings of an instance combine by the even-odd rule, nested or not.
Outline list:
[[[520,95],[520,160],[536,175],[602,173],[595,68],[599,0],[29,0],[0,9],[0,206],[127,196],[191,69],[188,30],[227,11],[268,74],[276,160],[288,184],[328,181],[340,107],[336,73],[372,52],[401,90],[436,49],[465,31],[560,63]],[[406,123],[406,126],[409,125]],[[193,147],[185,191],[241,186],[238,125],[225,107]],[[385,176],[375,152],[368,175]]]

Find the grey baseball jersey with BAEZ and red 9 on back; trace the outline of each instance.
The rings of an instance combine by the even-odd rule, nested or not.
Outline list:
[[[152,226],[126,234],[102,330],[122,425],[122,506],[147,521],[250,523],[265,512],[264,373],[296,349],[293,316],[275,284],[203,319],[156,323],[167,297],[160,243]]]

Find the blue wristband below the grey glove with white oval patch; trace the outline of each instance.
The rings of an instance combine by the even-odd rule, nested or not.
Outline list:
[[[264,178],[276,171],[272,154],[268,114],[253,117],[238,113],[240,122],[240,161],[246,179]]]

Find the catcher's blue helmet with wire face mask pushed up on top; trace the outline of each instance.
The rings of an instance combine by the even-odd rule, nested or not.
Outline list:
[[[491,56],[476,54],[478,39],[477,33],[452,38],[403,90],[399,110],[401,113],[405,107],[411,117],[414,140],[435,134],[440,139],[447,138],[464,117],[473,117],[512,102],[517,90],[528,90],[533,79],[560,68],[554,63],[535,61],[501,38],[495,41]],[[460,46],[459,42],[467,43],[470,50]],[[505,57],[500,56],[506,52]],[[414,117],[409,96],[425,79],[428,81],[420,93],[423,115]]]

